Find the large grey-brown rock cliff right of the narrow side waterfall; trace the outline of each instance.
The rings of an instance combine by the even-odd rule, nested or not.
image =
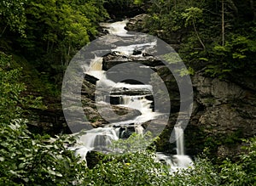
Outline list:
[[[208,147],[211,155],[222,158],[239,154],[241,138],[256,134],[255,92],[200,73],[192,82],[195,107],[186,129],[189,153]]]

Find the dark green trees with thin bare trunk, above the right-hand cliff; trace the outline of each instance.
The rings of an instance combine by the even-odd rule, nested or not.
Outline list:
[[[208,76],[254,76],[256,11],[253,1],[136,1],[149,3],[145,28],[179,44],[183,61]]]

